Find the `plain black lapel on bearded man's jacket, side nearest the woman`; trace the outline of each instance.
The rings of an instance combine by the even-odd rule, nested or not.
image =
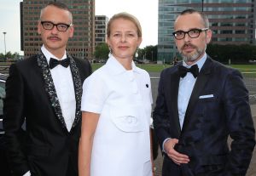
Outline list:
[[[178,110],[177,110],[177,94],[178,94],[178,87],[179,87],[179,75],[177,71],[177,66],[175,68],[175,71],[171,74],[171,82],[170,82],[170,88],[166,88],[166,91],[170,94],[169,100],[171,105],[171,112],[173,115],[173,120],[175,124],[172,127],[177,127],[178,135],[181,132],[180,124],[179,124],[179,117],[178,117]]]

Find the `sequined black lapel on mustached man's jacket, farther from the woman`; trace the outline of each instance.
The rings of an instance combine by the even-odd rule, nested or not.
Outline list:
[[[56,94],[55,85],[49,71],[49,66],[42,51],[40,51],[37,54],[37,60],[38,60],[38,66],[42,69],[42,72],[43,72],[44,87],[45,87],[46,93],[49,95],[49,102],[54,108],[55,115],[60,120],[62,128],[65,128],[67,130],[67,126],[61,112],[61,105]]]

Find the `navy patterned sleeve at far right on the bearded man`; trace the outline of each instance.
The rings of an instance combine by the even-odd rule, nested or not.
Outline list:
[[[224,111],[233,139],[225,175],[245,175],[255,145],[255,130],[248,101],[248,91],[241,73],[232,71],[224,86]]]

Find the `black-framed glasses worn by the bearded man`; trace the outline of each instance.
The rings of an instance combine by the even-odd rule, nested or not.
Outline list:
[[[189,31],[174,31],[172,32],[172,35],[177,39],[181,40],[185,37],[186,34],[189,35],[190,38],[196,38],[199,37],[200,33],[202,31],[207,31],[208,28],[202,28],[202,29],[190,29]]]

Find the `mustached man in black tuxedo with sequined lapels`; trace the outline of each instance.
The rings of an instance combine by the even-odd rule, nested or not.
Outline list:
[[[91,67],[66,53],[72,21],[65,4],[49,3],[38,21],[41,50],[10,66],[3,127],[14,175],[78,175],[82,84]]]

